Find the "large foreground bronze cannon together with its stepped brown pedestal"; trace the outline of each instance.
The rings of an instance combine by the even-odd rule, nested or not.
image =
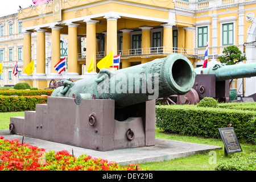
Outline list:
[[[109,151],[155,145],[155,98],[185,94],[196,73],[187,57],[172,54],[94,78],[63,81],[47,104],[12,117],[15,134]],[[94,99],[95,98],[95,99]]]

